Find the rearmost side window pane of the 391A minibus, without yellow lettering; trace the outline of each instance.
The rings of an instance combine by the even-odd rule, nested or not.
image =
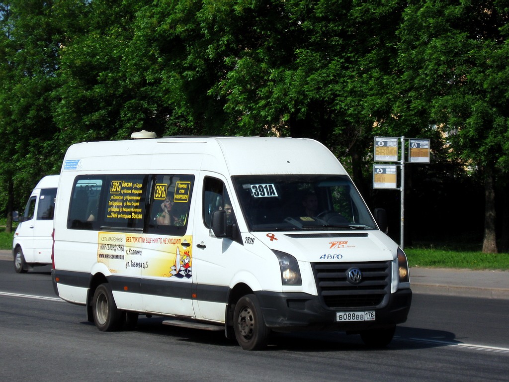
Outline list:
[[[77,177],[74,183],[67,217],[67,228],[99,229],[99,201],[103,185],[102,177]]]

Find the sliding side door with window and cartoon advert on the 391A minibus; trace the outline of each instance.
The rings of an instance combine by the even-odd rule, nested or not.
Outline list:
[[[145,311],[194,317],[193,189],[195,176],[155,174],[142,252]]]

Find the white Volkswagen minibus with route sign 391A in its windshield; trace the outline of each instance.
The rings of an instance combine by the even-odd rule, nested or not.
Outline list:
[[[248,350],[303,330],[385,346],[412,292],[383,231],[314,140],[79,143],[60,175],[52,277],[101,331],[160,315]]]

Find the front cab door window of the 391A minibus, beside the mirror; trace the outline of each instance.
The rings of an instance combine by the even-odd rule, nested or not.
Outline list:
[[[203,187],[203,223],[207,228],[211,227],[212,213],[221,209],[227,212],[227,224],[232,225],[235,216],[224,183],[219,179],[206,177]]]

